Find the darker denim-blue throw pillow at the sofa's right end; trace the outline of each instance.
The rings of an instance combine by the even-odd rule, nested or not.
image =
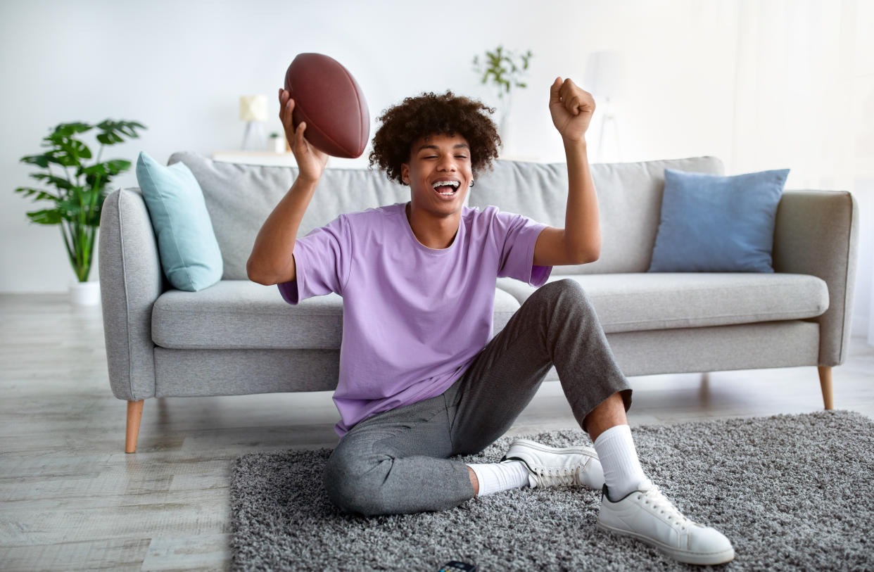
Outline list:
[[[664,169],[649,272],[773,272],[777,204],[789,169],[716,176]]]

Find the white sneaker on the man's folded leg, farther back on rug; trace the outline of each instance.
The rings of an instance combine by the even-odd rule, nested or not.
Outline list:
[[[592,447],[559,449],[517,439],[501,460],[522,461],[528,469],[531,488],[581,485],[597,491],[604,485],[604,470]]]

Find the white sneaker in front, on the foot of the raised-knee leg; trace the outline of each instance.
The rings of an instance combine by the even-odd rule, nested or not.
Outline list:
[[[666,555],[689,564],[722,564],[734,558],[732,542],[717,529],[683,516],[649,479],[616,502],[601,495],[598,527],[634,536]]]

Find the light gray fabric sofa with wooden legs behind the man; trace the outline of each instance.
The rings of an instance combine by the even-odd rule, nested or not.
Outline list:
[[[224,275],[200,292],[170,288],[138,189],[103,206],[100,281],[109,382],[128,401],[126,451],[135,451],[142,400],[334,389],[343,300],[329,294],[285,303],[276,286],[246,278],[255,235],[296,169],[213,162],[176,153],[198,179],[218,238]],[[831,409],[831,368],[843,362],[856,267],[857,203],[847,192],[786,190],[777,212],[774,273],[648,273],[664,169],[722,175],[715,157],[594,164],[600,259],[558,266],[593,300],[628,376],[818,366]],[[468,197],[564,226],[565,164],[496,162]],[[327,169],[300,229],[342,212],[406,202],[409,188],[368,169]],[[498,279],[494,331],[534,288]],[[555,369],[547,379],[556,379]],[[812,380],[811,380],[812,381]]]

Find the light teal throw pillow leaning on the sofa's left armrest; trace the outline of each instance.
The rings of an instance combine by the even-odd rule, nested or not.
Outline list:
[[[161,266],[170,284],[198,292],[218,282],[224,272],[221,251],[204,193],[191,169],[183,162],[164,167],[141,152],[136,180],[149,208]]]

